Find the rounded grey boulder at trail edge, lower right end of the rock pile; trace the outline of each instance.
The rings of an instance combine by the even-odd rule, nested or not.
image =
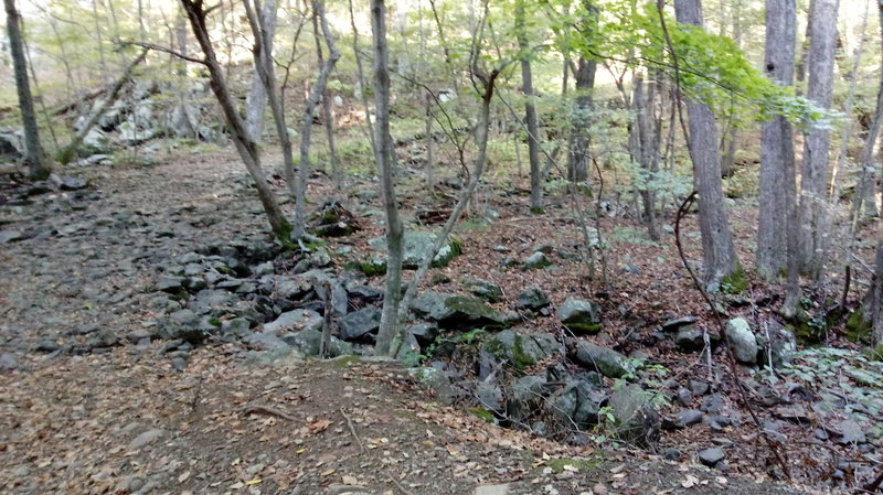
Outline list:
[[[650,394],[636,384],[615,390],[607,401],[620,439],[651,443],[659,434],[659,413]]]

